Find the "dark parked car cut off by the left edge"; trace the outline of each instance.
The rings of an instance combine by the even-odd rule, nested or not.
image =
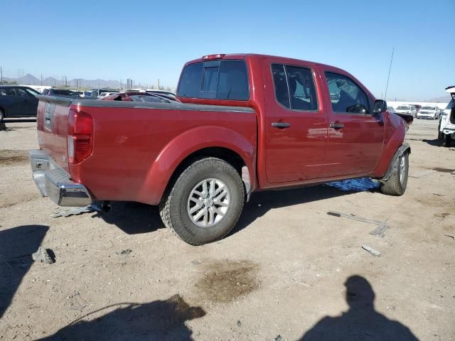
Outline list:
[[[36,117],[40,93],[31,87],[0,86],[0,121],[5,117]]]

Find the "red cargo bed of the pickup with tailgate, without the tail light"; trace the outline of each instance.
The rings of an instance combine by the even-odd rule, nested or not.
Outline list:
[[[191,136],[206,136],[208,146],[215,136],[237,141],[236,148],[238,141],[244,141],[250,153],[245,157],[255,157],[256,115],[248,107],[46,96],[39,99],[37,124],[41,149],[70,174],[70,180],[83,183],[93,200],[131,200],[156,205],[161,196],[157,188],[168,180],[159,178],[168,171],[161,168],[176,167],[181,162],[178,154],[188,153],[188,148],[204,147],[189,146]],[[92,154],[79,164],[68,162],[70,109],[90,114],[93,119]],[[226,142],[219,147],[232,146]],[[168,151],[169,148],[175,150]],[[166,161],[165,151],[173,154],[173,160]],[[154,169],[156,165],[159,169]]]

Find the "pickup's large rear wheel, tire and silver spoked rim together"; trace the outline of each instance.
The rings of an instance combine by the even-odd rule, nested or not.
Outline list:
[[[219,158],[202,158],[181,173],[160,203],[166,227],[191,245],[215,242],[235,226],[245,189],[234,167]]]

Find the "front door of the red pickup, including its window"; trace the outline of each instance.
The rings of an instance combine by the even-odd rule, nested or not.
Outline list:
[[[328,106],[327,162],[330,175],[373,171],[382,150],[382,114],[373,115],[373,99],[357,82],[342,73],[324,72]]]

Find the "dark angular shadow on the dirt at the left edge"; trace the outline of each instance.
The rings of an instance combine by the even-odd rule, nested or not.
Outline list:
[[[43,242],[49,227],[23,225],[0,231],[0,318],[33,264],[31,254]]]

